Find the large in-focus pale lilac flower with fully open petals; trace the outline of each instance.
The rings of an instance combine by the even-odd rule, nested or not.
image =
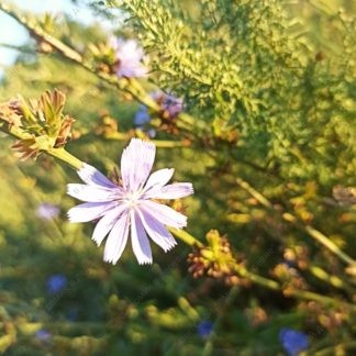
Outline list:
[[[104,262],[116,264],[127,243],[131,230],[133,252],[140,265],[152,264],[147,235],[165,252],[177,243],[166,225],[185,227],[187,218],[153,199],[178,199],[193,192],[192,185],[180,182],[167,185],[174,169],[165,168],[151,174],[156,147],[151,142],[132,138],[121,157],[121,180],[116,185],[94,167],[87,164],[78,170],[86,185],[68,185],[68,194],[86,203],[68,212],[71,222],[100,219],[92,240],[104,247]]]

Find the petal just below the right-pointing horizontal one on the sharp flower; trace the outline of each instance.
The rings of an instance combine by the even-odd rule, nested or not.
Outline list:
[[[164,225],[177,229],[187,226],[187,216],[169,207],[158,204],[154,201],[143,200],[140,204],[140,210],[145,214],[154,216]]]

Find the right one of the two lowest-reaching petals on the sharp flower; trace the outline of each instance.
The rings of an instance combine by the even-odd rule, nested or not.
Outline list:
[[[138,264],[152,264],[149,241],[140,215],[134,210],[131,211],[131,243]]]

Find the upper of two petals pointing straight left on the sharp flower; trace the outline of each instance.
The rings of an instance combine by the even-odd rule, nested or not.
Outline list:
[[[122,197],[123,191],[116,188],[100,188],[88,185],[67,185],[67,193],[82,201],[100,202],[118,200]]]

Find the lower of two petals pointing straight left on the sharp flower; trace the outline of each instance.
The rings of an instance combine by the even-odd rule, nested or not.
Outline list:
[[[102,216],[116,204],[116,202],[86,202],[71,208],[67,214],[70,222],[87,222]]]

